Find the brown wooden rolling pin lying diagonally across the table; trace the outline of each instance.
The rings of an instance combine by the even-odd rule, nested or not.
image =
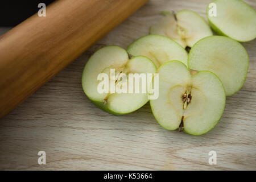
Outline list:
[[[59,0],[0,37],[0,118],[147,0]],[[82,68],[81,68],[82,69]]]

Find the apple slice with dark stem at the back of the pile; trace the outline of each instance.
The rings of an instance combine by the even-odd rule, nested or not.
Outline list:
[[[176,14],[164,12],[163,19],[150,27],[150,34],[168,36],[182,47],[192,47],[198,40],[211,36],[207,22],[191,10],[180,10]]]

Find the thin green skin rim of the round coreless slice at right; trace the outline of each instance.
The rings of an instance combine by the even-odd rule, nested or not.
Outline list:
[[[248,69],[249,69],[249,56],[247,55],[247,51],[246,51],[246,49],[242,46],[241,43],[237,42],[237,40],[234,40],[234,39],[232,39],[232,38],[229,38],[228,36],[213,35],[213,36],[209,36],[209,37],[203,38],[203,39],[201,39],[201,40],[205,40],[205,39],[213,38],[213,37],[223,37],[223,38],[226,38],[226,39],[231,39],[231,40],[233,40],[234,42],[236,42],[236,43],[243,49],[243,51],[246,52],[246,64],[247,64],[247,67],[246,67],[246,75],[245,75],[245,77],[243,77],[242,84],[240,85],[240,87],[238,87],[236,90],[234,90],[234,92],[232,92],[232,93],[226,93],[226,96],[233,96],[234,94],[236,94],[236,93],[242,88],[243,84],[245,84],[246,76],[247,76]],[[199,42],[197,42],[197,43],[191,48],[189,54],[190,54],[191,52],[193,52],[193,48],[195,48],[196,45],[199,44],[201,40],[199,40]],[[191,61],[191,57],[190,57],[190,56],[188,56],[188,68],[190,68],[190,67],[189,67],[189,61]],[[214,72],[212,72],[212,73],[214,73]],[[214,73],[214,75],[216,75],[216,73]],[[218,77],[218,78],[220,79],[220,77]],[[224,88],[225,88],[225,87],[224,87]]]

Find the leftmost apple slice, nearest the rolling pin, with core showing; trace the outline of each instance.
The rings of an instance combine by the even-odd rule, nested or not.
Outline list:
[[[121,78],[118,78],[119,73],[127,76],[129,73],[154,74],[156,71],[154,63],[147,57],[136,56],[129,60],[125,49],[118,46],[106,46],[96,51],[85,65],[82,73],[82,89],[86,96],[102,110],[112,114],[131,113],[146,104],[148,92],[143,93],[142,90],[139,93],[110,93],[110,91],[108,93],[99,93],[98,84],[100,81],[97,80],[98,75],[106,73],[109,76],[110,83],[110,78],[113,78],[110,77],[111,69],[115,69],[115,86],[121,80]],[[141,85],[139,86],[141,87]],[[110,89],[110,86],[108,87]],[[129,85],[127,85],[128,87]]]

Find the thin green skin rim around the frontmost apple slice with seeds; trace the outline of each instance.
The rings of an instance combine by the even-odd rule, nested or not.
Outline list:
[[[176,61],[176,60],[175,60],[175,61],[168,61],[168,62],[162,64],[162,65],[156,70],[156,73],[158,73],[158,70],[159,70],[160,68],[162,68],[164,65],[166,65],[166,64],[168,64],[168,63],[172,63],[172,62],[179,62],[179,63],[182,63],[182,62]],[[185,67],[187,67],[187,65],[185,65],[184,63],[182,63],[182,64],[183,64]],[[214,76],[220,81],[220,83],[222,84],[220,78],[219,78],[215,73],[213,73],[213,72],[210,72],[210,71],[199,71],[199,72],[197,72],[195,75],[198,75],[198,74],[204,73],[204,72],[212,73],[212,75],[214,75]],[[222,88],[223,88],[223,90],[224,90],[223,84],[222,84]],[[224,92],[224,97],[225,97],[225,92]],[[213,125],[209,130],[205,131],[204,133],[196,134],[196,133],[191,133],[191,132],[189,132],[189,131],[186,130],[185,127],[184,127],[184,130],[183,130],[183,131],[184,131],[185,133],[187,133],[187,134],[191,134],[191,135],[194,135],[194,136],[204,135],[204,134],[208,133],[210,130],[212,130],[212,129],[217,125],[218,122],[220,122],[220,119],[221,119],[221,117],[222,117],[222,115],[223,115],[223,113],[224,113],[224,110],[225,110],[225,105],[226,105],[226,99],[224,98],[224,105],[222,106],[223,109],[222,109],[222,113],[221,113],[221,115],[220,115],[220,118],[217,119],[216,122],[214,122],[214,125]],[[152,114],[154,115],[154,118],[156,119],[157,117],[156,117],[156,115],[155,115],[155,113],[154,113],[154,109],[153,109],[151,100],[150,100],[150,107],[151,107],[151,110],[152,110]],[[163,126],[162,123],[158,121],[158,119],[156,119],[156,121],[158,122],[158,124],[159,124],[161,127],[163,127],[163,129],[165,129],[165,130],[170,130],[170,129],[168,129],[167,127]],[[172,130],[170,130],[170,131],[172,131]]]

